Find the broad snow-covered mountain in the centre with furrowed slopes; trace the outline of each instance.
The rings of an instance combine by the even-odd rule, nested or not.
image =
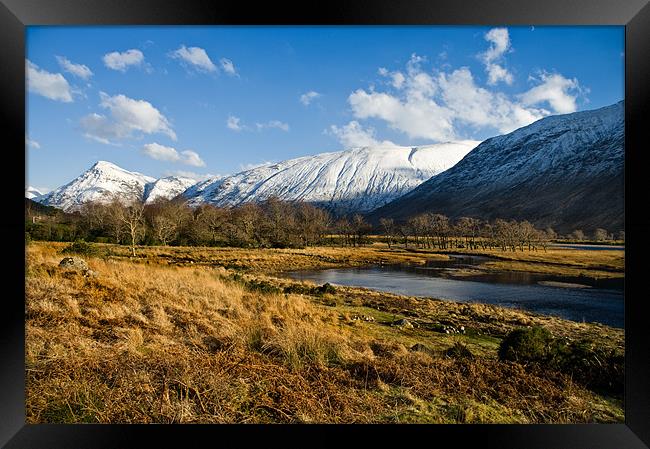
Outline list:
[[[276,196],[339,212],[369,211],[452,167],[478,144],[468,140],[322,153],[209,179],[190,187],[183,195],[192,206],[233,206]]]

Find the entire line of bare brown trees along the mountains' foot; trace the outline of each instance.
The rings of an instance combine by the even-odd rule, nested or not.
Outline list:
[[[137,200],[125,203],[124,199],[115,198],[110,202],[87,203],[72,217],[77,218],[66,224],[71,228],[70,235],[128,245],[132,255],[140,244],[357,247],[377,240],[383,240],[389,247],[534,251],[545,250],[548,243],[558,237],[553,229],[540,230],[528,221],[497,219],[488,222],[473,217],[451,220],[434,213],[415,215],[399,223],[382,218],[379,225],[373,227],[360,214],[334,219],[324,209],[311,204],[277,198],[226,208],[212,205],[191,208],[180,199],[159,199],[144,204]],[[39,226],[38,223],[31,225],[34,229]],[[598,229],[595,236],[611,238],[603,229]],[[570,237],[580,240],[584,233],[577,230]]]

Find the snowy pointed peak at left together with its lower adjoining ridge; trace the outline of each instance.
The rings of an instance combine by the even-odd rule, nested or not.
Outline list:
[[[38,197],[37,201],[65,211],[76,210],[89,201],[109,201],[113,196],[152,202],[160,197],[173,198],[193,183],[191,179],[175,176],[156,179],[98,161],[68,184]]]

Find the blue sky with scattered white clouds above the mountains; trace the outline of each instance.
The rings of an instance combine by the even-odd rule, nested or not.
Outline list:
[[[624,98],[623,27],[28,27],[27,179],[200,179]]]

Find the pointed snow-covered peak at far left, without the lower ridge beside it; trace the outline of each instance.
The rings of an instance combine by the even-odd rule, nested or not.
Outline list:
[[[156,179],[98,161],[77,178],[38,199],[42,204],[73,211],[89,201],[108,201],[112,195],[142,198],[145,187]]]

